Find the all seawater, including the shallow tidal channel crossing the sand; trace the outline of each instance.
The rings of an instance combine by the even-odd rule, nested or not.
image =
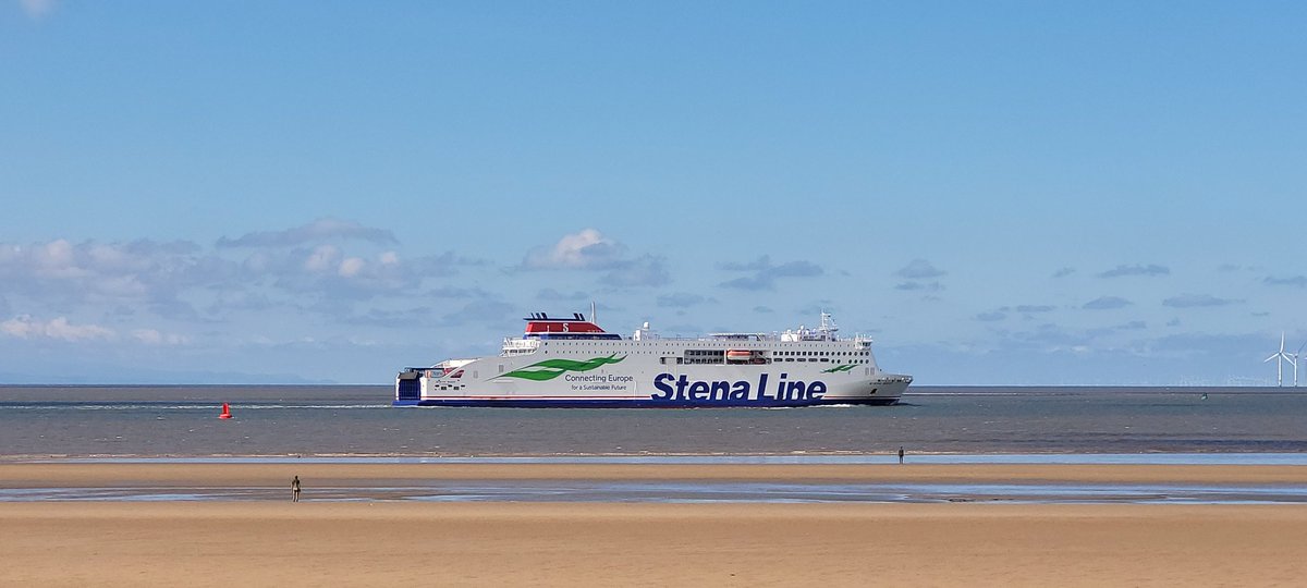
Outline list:
[[[1307,465],[1291,388],[914,387],[894,406],[395,408],[388,385],[0,387],[0,463]],[[231,418],[220,419],[227,404]],[[0,481],[3,482],[3,481]],[[308,481],[306,500],[1303,504],[1307,483]],[[250,487],[7,487],[0,502],[280,500]]]

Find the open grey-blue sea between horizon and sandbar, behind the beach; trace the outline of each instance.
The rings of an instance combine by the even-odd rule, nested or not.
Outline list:
[[[1307,452],[1307,393],[1268,388],[921,387],[898,406],[697,410],[392,408],[391,393],[0,387],[0,459]],[[217,418],[222,402],[235,418]]]

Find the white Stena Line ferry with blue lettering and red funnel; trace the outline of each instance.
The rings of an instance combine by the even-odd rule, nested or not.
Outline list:
[[[839,338],[831,315],[816,329],[630,337],[583,314],[527,319],[498,355],[406,367],[396,406],[712,408],[889,405],[912,376],[881,371],[868,337]]]

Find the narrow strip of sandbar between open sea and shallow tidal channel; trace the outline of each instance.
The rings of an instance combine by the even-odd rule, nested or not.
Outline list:
[[[844,481],[920,483],[1307,483],[1302,465],[1067,464],[0,464],[0,489],[376,487],[429,480]],[[289,486],[288,486],[289,487]]]

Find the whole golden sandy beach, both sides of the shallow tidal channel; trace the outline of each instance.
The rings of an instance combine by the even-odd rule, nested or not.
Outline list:
[[[4,464],[0,487],[484,480],[1303,483],[1295,466]],[[306,497],[310,497],[307,494]],[[1307,506],[0,503],[3,585],[1295,585]]]

